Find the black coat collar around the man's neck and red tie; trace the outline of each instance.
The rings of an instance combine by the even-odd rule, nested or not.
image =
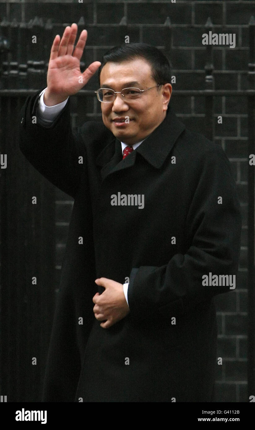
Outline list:
[[[148,163],[159,169],[184,129],[185,125],[176,117],[169,104],[165,119],[144,139],[141,145],[129,155],[125,160],[125,164],[120,163],[120,161],[122,161],[121,143],[113,134],[113,138],[104,147],[95,162],[98,166],[102,167],[101,173],[104,177],[110,172],[132,166],[135,163],[135,156],[138,152]],[[116,163],[119,164],[116,166]]]

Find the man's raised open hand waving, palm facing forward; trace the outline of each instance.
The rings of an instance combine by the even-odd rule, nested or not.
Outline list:
[[[100,61],[94,61],[81,73],[80,59],[83,55],[88,33],[86,30],[81,32],[74,48],[77,31],[77,24],[72,24],[71,27],[65,28],[61,40],[57,34],[52,43],[47,73],[47,89],[43,98],[47,106],[61,103],[69,95],[76,94],[86,85],[101,65]]]

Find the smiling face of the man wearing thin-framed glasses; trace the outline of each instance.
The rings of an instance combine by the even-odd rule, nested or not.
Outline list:
[[[101,88],[121,91],[123,88],[136,87],[149,89],[141,93],[141,98],[125,101],[120,93],[111,103],[101,102],[104,125],[120,141],[134,144],[145,139],[166,117],[167,105],[171,97],[172,86],[166,83],[156,87],[157,82],[151,77],[151,65],[144,58],[104,65],[100,75]],[[129,123],[117,124],[116,119],[129,117]]]

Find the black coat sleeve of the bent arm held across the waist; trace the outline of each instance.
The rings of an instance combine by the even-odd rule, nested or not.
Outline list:
[[[173,255],[162,267],[132,268],[128,301],[134,317],[169,318],[231,291],[229,286],[204,286],[202,276],[211,272],[212,276],[232,275],[235,279],[233,275],[237,275],[241,214],[236,184],[221,147],[215,145],[199,159],[200,174],[191,194],[184,233],[187,251]]]

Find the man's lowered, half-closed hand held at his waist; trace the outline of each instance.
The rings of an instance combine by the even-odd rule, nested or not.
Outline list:
[[[100,326],[108,329],[130,312],[123,292],[123,284],[107,278],[98,278],[95,283],[104,287],[105,290],[102,294],[94,295],[93,311],[98,321],[104,321]]]

